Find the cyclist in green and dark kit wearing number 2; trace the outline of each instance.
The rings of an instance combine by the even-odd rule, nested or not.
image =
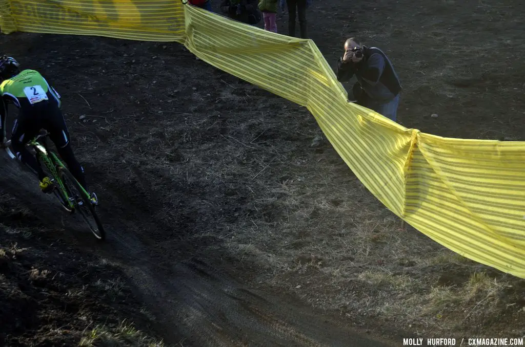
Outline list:
[[[11,132],[11,144],[18,159],[38,175],[40,189],[49,193],[53,191],[53,183],[25,145],[38,135],[40,129],[44,128],[71,174],[82,187],[89,191],[84,169],[75,158],[71,148],[66,121],[60,111],[60,95],[57,91],[38,71],[20,71],[19,63],[7,56],[0,57],[0,83],[0,127],[3,145],[7,144],[5,131],[7,105],[12,103],[18,107],[19,113]],[[91,193],[91,202],[98,204],[95,193]]]

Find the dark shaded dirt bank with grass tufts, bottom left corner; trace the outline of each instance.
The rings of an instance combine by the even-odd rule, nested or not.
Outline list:
[[[0,200],[1,346],[155,343],[135,328],[151,332],[155,318],[127,275],[106,258],[42,237],[48,227],[19,199],[2,193]]]

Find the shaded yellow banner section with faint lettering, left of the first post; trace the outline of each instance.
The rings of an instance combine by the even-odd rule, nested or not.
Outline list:
[[[0,0],[0,27],[4,34],[184,42],[184,5],[180,0]]]

